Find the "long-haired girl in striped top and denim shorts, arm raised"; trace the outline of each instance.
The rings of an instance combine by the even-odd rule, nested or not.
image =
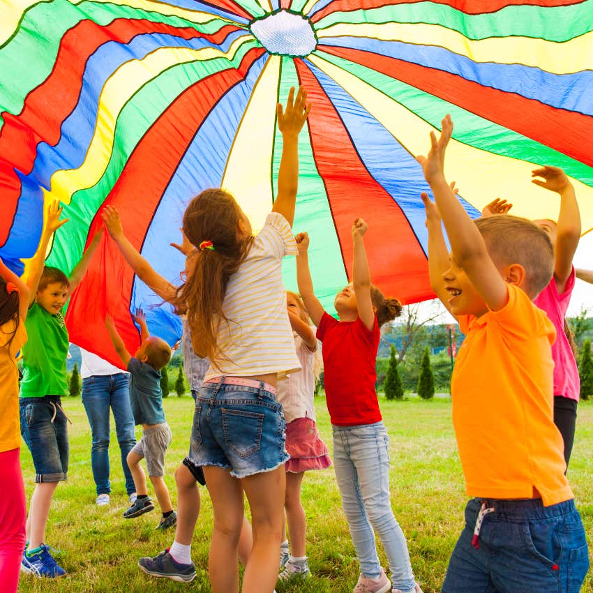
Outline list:
[[[278,193],[257,237],[234,198],[220,189],[204,190],[183,216],[183,232],[200,253],[177,304],[188,313],[194,350],[210,359],[197,397],[190,457],[204,467],[213,504],[213,593],[239,591],[243,490],[254,536],[243,593],[271,593],[278,577],[287,455],[276,377],[300,369],[286,314],[281,261],[296,252],[290,227],[297,147],[309,109],[303,89],[296,98],[291,89],[285,112],[277,107],[283,135]]]

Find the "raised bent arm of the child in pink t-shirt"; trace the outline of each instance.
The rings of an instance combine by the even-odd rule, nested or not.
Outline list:
[[[554,249],[554,278],[559,294],[566,289],[566,282],[572,272],[572,260],[580,239],[580,213],[573,184],[566,173],[558,167],[542,167],[532,172],[536,186],[560,195],[560,214],[556,225],[556,245]]]

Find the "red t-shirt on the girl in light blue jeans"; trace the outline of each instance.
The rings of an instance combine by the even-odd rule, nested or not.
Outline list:
[[[331,423],[354,426],[381,421],[375,391],[380,340],[377,317],[373,331],[368,331],[360,317],[337,321],[324,313],[317,339],[323,343],[323,378]]]

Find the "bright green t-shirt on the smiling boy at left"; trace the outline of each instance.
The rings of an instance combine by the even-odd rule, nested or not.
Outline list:
[[[63,309],[57,315],[52,315],[35,302],[27,313],[24,325],[29,340],[22,348],[20,396],[42,398],[68,395],[68,330]]]

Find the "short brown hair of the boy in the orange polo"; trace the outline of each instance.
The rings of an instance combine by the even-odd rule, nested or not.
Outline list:
[[[523,289],[530,299],[534,299],[554,273],[554,248],[548,233],[527,218],[509,214],[478,218],[474,223],[497,267],[523,266]]]

